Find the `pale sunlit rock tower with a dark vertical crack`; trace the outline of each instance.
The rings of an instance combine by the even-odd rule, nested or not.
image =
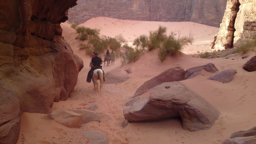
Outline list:
[[[215,50],[239,47],[256,37],[256,0],[228,0]]]

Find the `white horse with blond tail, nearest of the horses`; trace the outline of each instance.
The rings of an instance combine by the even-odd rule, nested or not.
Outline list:
[[[93,71],[93,78],[92,78],[92,80],[93,80],[93,85],[94,85],[94,91],[95,92],[96,91],[100,91],[101,92],[101,88],[102,88],[103,83],[104,83],[102,69],[95,69]],[[100,89],[99,90],[98,90],[98,82],[97,82],[97,80],[99,80],[99,82],[100,82],[100,85],[99,85]]]

